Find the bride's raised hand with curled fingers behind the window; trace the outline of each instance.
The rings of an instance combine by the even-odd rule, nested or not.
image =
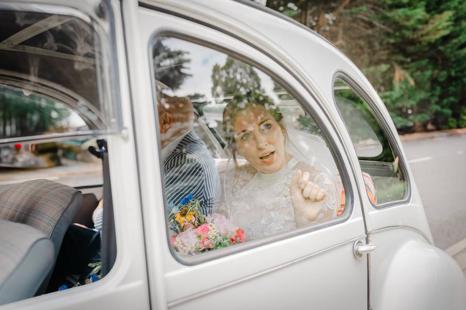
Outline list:
[[[309,181],[309,176],[309,172],[298,170],[291,181],[290,196],[298,227],[316,222],[327,195],[317,184]]]

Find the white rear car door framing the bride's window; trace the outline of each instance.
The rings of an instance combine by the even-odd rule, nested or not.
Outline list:
[[[335,124],[322,110],[325,103],[317,102],[300,81],[288,73],[285,64],[266,56],[274,53],[273,49],[266,53],[253,48],[254,34],[248,27],[244,27],[244,37],[249,39],[238,40],[224,30],[228,28],[227,24],[211,25],[207,13],[200,22],[190,18],[189,15],[194,13],[188,10],[184,12],[186,15],[180,16],[180,12],[175,14],[150,4],[139,8],[126,5],[123,17],[132,80],[152,307],[365,309],[367,260],[365,255],[357,259],[353,251],[356,241],[366,243],[365,224],[361,204],[354,191],[350,162],[340,142],[341,137],[334,129]],[[231,12],[216,12],[215,19],[224,17],[227,20],[229,14]],[[133,35],[136,29],[137,35]],[[154,55],[160,56],[154,54],[154,45],[161,40],[167,47],[166,51],[185,51],[185,54],[181,53],[185,58],[199,53],[202,56],[199,59],[205,62],[215,59],[216,55],[223,55],[222,61],[230,57],[233,62],[250,66],[251,70],[259,72],[260,77],[268,78],[270,83],[277,82],[286,94],[292,93],[301,109],[316,120],[337,160],[346,193],[343,214],[318,225],[241,245],[189,257],[177,254],[169,243],[166,228],[166,193],[162,150],[158,141],[161,136],[156,118],[157,96],[154,96],[158,80],[154,78],[154,70],[158,68],[154,64]],[[190,61],[193,67],[184,70],[187,76],[195,77],[191,80],[195,84],[190,91],[196,87],[209,90],[209,87],[199,84],[202,78],[196,78],[202,74],[205,76],[205,73],[201,74],[202,70],[196,67],[198,62],[194,56]],[[169,91],[173,91],[175,96],[187,96],[180,90]],[[190,98],[195,102],[194,96]],[[200,134],[201,131],[196,132]],[[208,144],[206,140],[204,143]],[[211,155],[217,158],[212,150]]]

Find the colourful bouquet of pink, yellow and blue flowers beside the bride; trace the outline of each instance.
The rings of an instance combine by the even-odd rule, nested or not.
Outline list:
[[[172,247],[182,255],[196,255],[216,248],[243,243],[246,234],[223,215],[204,216],[200,202],[192,194],[181,200],[181,206],[171,205],[168,223]]]

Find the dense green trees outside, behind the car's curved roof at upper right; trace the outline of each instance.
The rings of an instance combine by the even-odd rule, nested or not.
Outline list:
[[[463,0],[268,0],[345,52],[399,128],[466,126]]]

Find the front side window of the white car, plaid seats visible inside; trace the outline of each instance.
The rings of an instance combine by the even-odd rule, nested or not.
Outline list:
[[[0,8],[0,220],[31,226],[53,244],[33,260],[20,256],[29,253],[26,234],[0,248],[0,287],[15,291],[0,294],[0,304],[92,283],[112,267],[100,259],[100,230],[113,218],[100,208],[111,204],[101,200],[98,156],[121,122],[110,11],[97,7],[92,16],[40,4]],[[36,272],[15,276],[15,268]]]

